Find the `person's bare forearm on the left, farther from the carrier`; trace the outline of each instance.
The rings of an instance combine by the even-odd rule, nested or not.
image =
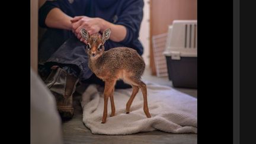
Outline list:
[[[64,12],[62,12],[59,8],[53,8],[46,17],[45,24],[47,27],[51,28],[60,28],[65,30],[71,30],[72,17],[69,17]]]

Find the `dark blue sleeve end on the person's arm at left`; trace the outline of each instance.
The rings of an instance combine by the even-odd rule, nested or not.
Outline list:
[[[47,27],[47,25],[45,24],[45,20],[46,20],[47,14],[53,8],[60,8],[57,1],[46,1],[39,8],[39,26],[40,27]]]

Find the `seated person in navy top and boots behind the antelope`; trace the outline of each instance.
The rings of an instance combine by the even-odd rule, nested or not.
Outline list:
[[[73,116],[72,95],[77,84],[104,85],[88,68],[81,28],[89,34],[111,28],[105,50],[130,47],[142,55],[138,37],[143,5],[143,0],[52,0],[40,7],[39,25],[47,31],[39,41],[39,75],[55,95],[62,118]],[[116,88],[131,86],[117,81]]]

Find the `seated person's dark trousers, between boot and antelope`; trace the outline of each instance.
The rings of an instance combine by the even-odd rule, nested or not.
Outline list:
[[[79,78],[79,82],[99,84],[104,81],[97,78],[88,68],[88,56],[85,53],[85,44],[75,36],[63,41],[58,30],[49,30],[44,34],[39,44],[39,75],[44,80],[50,74],[52,66],[60,66],[67,73]],[[116,88],[132,88],[123,81],[117,81]]]

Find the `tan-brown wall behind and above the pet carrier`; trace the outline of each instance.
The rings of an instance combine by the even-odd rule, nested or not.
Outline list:
[[[152,36],[167,33],[173,20],[197,20],[197,0],[150,0],[150,41]],[[150,43],[150,66],[156,75],[152,43]]]

